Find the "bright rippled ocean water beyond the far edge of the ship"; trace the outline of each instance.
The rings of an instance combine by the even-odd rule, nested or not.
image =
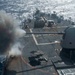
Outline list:
[[[36,8],[45,13],[56,11],[58,15],[75,20],[75,0],[0,0],[0,10],[19,20],[32,18]]]

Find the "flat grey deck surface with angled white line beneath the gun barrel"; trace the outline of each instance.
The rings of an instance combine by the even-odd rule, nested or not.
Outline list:
[[[31,29],[33,32],[61,32],[64,28],[49,29]],[[26,30],[30,32],[29,29]],[[72,62],[67,58],[60,57],[61,46],[55,41],[60,41],[62,35],[26,35],[23,38],[24,49],[22,56],[15,58],[7,67],[5,75],[58,75],[57,70],[60,68],[72,67]],[[35,39],[34,39],[35,38]],[[48,62],[39,66],[31,66],[29,64],[31,51],[42,51],[48,57]]]

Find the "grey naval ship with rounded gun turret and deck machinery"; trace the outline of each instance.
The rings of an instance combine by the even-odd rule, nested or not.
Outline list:
[[[22,55],[12,59],[5,75],[75,75],[74,22],[37,10],[20,26],[26,31]]]

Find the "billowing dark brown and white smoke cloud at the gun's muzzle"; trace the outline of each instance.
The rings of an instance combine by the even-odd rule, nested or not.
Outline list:
[[[25,35],[19,23],[5,11],[0,11],[0,53],[9,52],[9,55],[21,55],[21,45],[17,39]]]

